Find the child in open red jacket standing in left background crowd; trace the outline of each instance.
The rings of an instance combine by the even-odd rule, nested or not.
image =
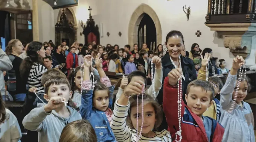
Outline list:
[[[73,68],[76,68],[78,66],[78,56],[77,54],[75,53],[76,51],[76,47],[71,47],[70,48],[70,53],[67,55],[67,60],[66,60],[66,63],[67,63],[67,74],[70,73],[70,70],[72,70]],[[75,58],[75,59],[74,59]]]

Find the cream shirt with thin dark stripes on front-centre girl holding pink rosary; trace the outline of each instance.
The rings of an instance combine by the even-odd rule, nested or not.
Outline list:
[[[126,125],[125,119],[128,115],[128,109],[130,103],[127,106],[122,106],[115,103],[115,107],[112,115],[112,122],[110,124],[111,129],[118,142],[137,142],[136,130],[131,129]],[[154,131],[154,137],[140,136],[139,142],[171,142],[171,134],[167,130],[161,132]]]

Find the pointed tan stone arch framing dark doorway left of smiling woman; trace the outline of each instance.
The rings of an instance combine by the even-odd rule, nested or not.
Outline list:
[[[138,28],[140,21],[143,18],[143,13],[148,14],[155,23],[155,29],[157,31],[157,45],[162,44],[162,27],[157,14],[154,9],[146,4],[141,4],[131,15],[131,19],[128,26],[128,44],[133,45],[138,43]],[[133,48],[133,46],[131,46]]]

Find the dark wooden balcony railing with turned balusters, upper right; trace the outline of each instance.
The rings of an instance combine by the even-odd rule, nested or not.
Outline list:
[[[206,24],[256,23],[256,0],[208,0]]]

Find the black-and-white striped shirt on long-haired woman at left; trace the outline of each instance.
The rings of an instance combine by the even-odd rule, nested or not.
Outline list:
[[[37,94],[44,94],[44,86],[41,83],[41,79],[43,73],[46,71],[47,69],[39,63],[35,63],[30,67],[29,77],[27,78],[27,84],[29,85],[29,88],[36,87]]]

